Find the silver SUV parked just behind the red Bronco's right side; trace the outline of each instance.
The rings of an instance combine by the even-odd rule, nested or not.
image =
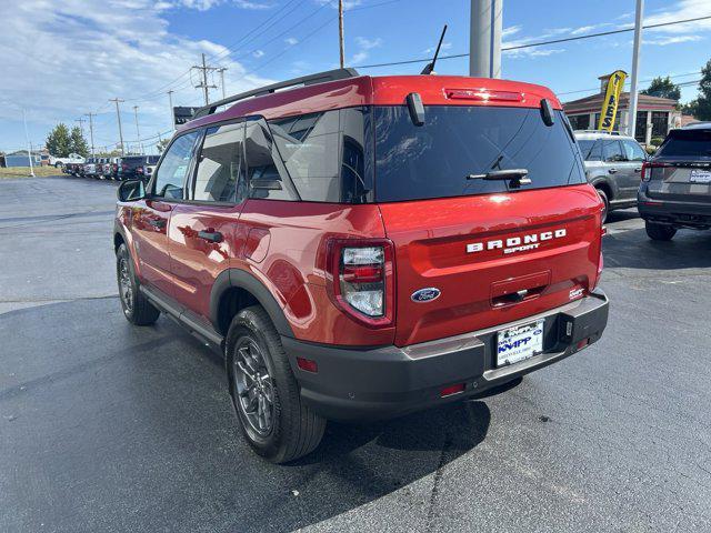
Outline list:
[[[604,202],[603,222],[610,211],[637,205],[644,149],[632,137],[604,131],[575,131],[575,139],[588,181]]]

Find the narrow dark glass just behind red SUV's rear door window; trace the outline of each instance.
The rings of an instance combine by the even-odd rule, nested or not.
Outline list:
[[[246,122],[244,154],[249,179],[249,198],[294,200],[293,187],[281,161],[274,158],[269,127],[263,119]]]

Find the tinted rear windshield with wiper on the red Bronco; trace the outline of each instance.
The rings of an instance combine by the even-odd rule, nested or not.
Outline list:
[[[584,183],[584,170],[563,115],[543,123],[539,109],[425,107],[417,127],[405,107],[374,108],[375,201],[509,191],[507,180],[467,179],[525,169],[522,190]]]

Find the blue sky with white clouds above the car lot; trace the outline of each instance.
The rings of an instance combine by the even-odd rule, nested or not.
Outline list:
[[[170,130],[166,91],[174,104],[201,103],[189,68],[206,52],[228,68],[228,93],[274,80],[337,67],[337,11],[329,0],[24,0],[3,7],[0,32],[0,149],[23,148],[22,110],[34,145],[58,121],[94,118],[94,144],[118,141],[116,109],[121,98],[124,139],[146,144]],[[504,47],[625,27],[634,0],[503,0]],[[346,54],[349,66],[427,57],[444,23],[442,53],[469,48],[470,0],[348,0]],[[647,0],[645,23],[711,16],[709,0]],[[256,28],[260,27],[258,31]],[[711,20],[647,31],[642,81],[654,76],[677,82],[699,79],[711,59]],[[503,77],[542,83],[561,100],[595,92],[598,76],[630,70],[632,33],[507,52]],[[371,74],[417,73],[422,64],[361,68]],[[467,59],[442,60],[439,73],[465,74]],[[219,77],[211,80],[219,84]],[[641,87],[644,87],[642,83]],[[682,101],[694,98],[684,87]],[[221,90],[211,92],[217,99]],[[84,117],[86,118],[86,117]],[[88,125],[84,123],[88,137]]]

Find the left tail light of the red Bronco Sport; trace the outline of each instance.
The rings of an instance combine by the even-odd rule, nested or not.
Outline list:
[[[329,296],[341,311],[369,326],[394,316],[393,244],[387,239],[333,239],[328,244]]]

